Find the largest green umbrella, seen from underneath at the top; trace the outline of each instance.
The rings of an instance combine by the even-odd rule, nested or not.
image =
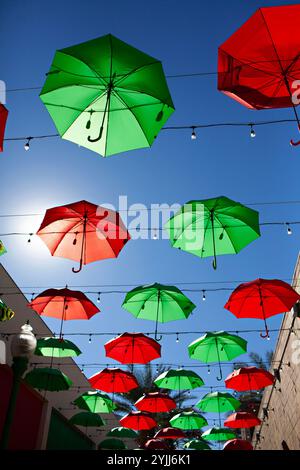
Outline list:
[[[174,112],[161,62],[111,34],[56,51],[40,97],[61,137],[103,156],[150,147]]]

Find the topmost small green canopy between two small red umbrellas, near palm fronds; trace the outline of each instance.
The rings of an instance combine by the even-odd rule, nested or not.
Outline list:
[[[196,372],[184,369],[170,369],[160,374],[154,383],[157,387],[169,390],[192,390],[202,387],[203,380]]]

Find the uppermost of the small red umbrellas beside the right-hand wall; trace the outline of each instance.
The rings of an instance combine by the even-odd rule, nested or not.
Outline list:
[[[260,390],[268,385],[273,385],[274,381],[274,375],[267,370],[258,369],[257,367],[241,367],[228,375],[225,379],[225,385],[227,388],[233,388],[238,392],[245,392]]]

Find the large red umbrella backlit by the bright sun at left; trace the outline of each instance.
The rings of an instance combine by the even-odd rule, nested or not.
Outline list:
[[[84,264],[117,258],[130,235],[118,212],[87,201],[53,207],[46,211],[37,235],[52,256]]]

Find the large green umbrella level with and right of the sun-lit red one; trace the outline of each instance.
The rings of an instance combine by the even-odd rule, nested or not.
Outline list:
[[[236,254],[260,237],[259,214],[239,202],[220,196],[190,201],[165,225],[175,248],[200,258]]]

